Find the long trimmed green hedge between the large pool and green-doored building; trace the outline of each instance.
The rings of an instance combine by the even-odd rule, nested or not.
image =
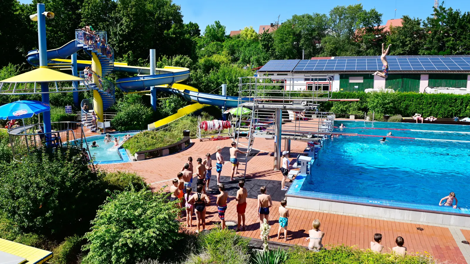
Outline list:
[[[345,92],[333,93],[335,99],[360,99],[359,102],[324,102],[322,111],[340,109],[344,113],[359,114],[372,112],[413,116],[415,113],[423,116],[436,117],[467,117],[470,116],[470,95],[458,94],[429,94],[429,93],[364,93]]]

